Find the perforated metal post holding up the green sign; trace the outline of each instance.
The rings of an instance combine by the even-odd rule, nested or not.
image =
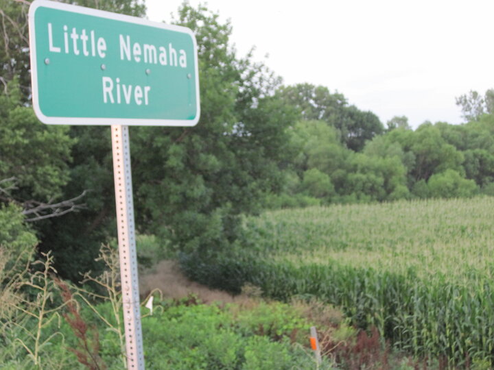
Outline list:
[[[144,370],[128,126],[113,125],[111,132],[127,369]]]

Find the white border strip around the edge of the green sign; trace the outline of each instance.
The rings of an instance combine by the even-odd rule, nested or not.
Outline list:
[[[126,118],[105,118],[105,117],[60,117],[60,116],[45,116],[41,112],[39,106],[38,95],[38,66],[36,62],[36,34],[34,28],[34,13],[40,7],[52,8],[57,10],[64,10],[67,12],[86,14],[91,16],[97,16],[99,18],[113,19],[116,21],[122,21],[126,23],[135,23],[138,25],[146,25],[154,28],[167,29],[169,31],[180,32],[183,34],[189,34],[192,38],[194,49],[194,61],[196,64],[196,116],[194,119],[126,119]],[[78,5],[69,5],[66,3],[58,3],[48,0],[34,0],[30,5],[29,10],[29,28],[30,28],[30,60],[31,60],[31,82],[32,82],[32,101],[33,108],[38,119],[49,125],[129,125],[129,126],[182,126],[191,127],[197,125],[200,119],[200,100],[199,100],[199,60],[197,53],[197,41],[196,35],[193,34],[191,29],[187,27],[181,27],[178,25],[167,25],[165,23],[158,23],[148,21],[147,19],[137,18],[135,16],[128,16],[124,14],[117,14],[106,12],[104,10],[95,10],[91,8],[84,8]]]

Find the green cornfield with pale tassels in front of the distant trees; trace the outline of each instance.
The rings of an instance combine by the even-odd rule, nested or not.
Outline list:
[[[266,212],[236,248],[183,256],[194,279],[269,297],[318,297],[398,349],[494,364],[494,198]]]

